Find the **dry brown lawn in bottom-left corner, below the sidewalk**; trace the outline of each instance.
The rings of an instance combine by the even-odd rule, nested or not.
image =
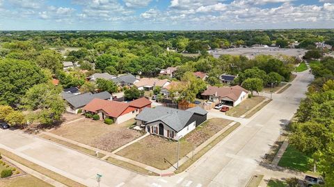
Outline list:
[[[52,185],[31,175],[23,175],[10,179],[0,180],[2,187],[51,187]]]

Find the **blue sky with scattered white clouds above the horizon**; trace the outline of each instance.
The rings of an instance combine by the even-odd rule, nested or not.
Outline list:
[[[0,0],[0,30],[334,28],[334,0]]]

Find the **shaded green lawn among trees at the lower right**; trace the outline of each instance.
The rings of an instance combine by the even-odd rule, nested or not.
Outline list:
[[[292,145],[288,145],[283,157],[278,162],[278,166],[308,172],[312,169],[310,163],[312,163],[312,159],[309,156],[299,152]]]

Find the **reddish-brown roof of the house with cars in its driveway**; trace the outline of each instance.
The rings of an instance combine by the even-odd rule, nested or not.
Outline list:
[[[228,97],[232,100],[238,100],[238,98],[241,96],[242,92],[248,93],[248,90],[244,89],[243,87],[240,87],[239,85],[234,87],[207,87],[207,90],[205,90],[202,93],[202,96],[216,96],[219,98]]]

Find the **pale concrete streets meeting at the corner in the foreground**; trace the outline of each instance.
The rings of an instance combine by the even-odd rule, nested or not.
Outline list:
[[[296,112],[312,78],[308,72],[298,73],[292,86],[283,94],[273,94],[273,101],[251,118],[235,118],[241,122],[237,130],[189,170],[173,177],[138,175],[18,131],[0,130],[0,147],[86,186],[97,186],[97,173],[103,175],[101,186],[245,186],[257,172],[261,158],[278,138],[281,127],[287,125]],[[226,118],[225,115],[212,115]]]

